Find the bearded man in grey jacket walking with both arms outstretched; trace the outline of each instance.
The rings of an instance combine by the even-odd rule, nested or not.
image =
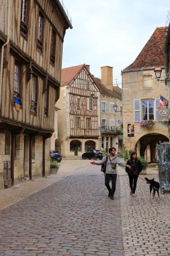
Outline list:
[[[127,167],[127,168],[131,168],[129,165],[127,164],[123,164],[120,160],[120,158],[118,158],[118,156],[116,156],[116,148],[110,148],[109,149],[109,156],[108,156],[108,161],[106,163],[106,156],[105,158],[103,158],[100,162],[91,162],[91,164],[96,164],[96,165],[101,165],[103,163],[106,164],[106,169],[105,169],[105,186],[107,187],[109,194],[108,197],[110,197],[110,199],[114,199],[114,193],[116,190],[116,179],[117,179],[117,171],[116,171],[116,164],[122,166],[122,167]],[[110,181],[112,181],[112,189],[110,187]]]

